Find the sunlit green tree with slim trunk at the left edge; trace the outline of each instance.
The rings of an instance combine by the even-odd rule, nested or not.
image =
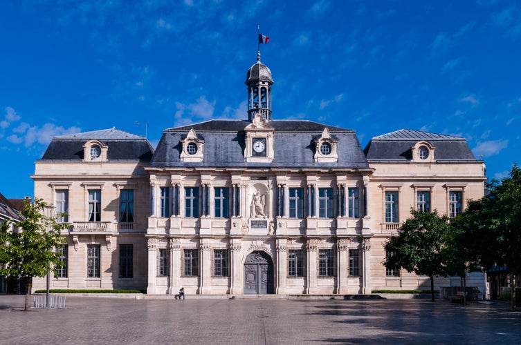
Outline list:
[[[52,206],[42,199],[34,204],[24,202],[21,221],[13,224],[6,221],[0,227],[0,264],[4,264],[0,275],[18,277],[26,284],[26,305],[28,307],[28,282],[33,277],[44,277],[51,267],[61,267],[60,256],[55,247],[64,243],[60,236],[67,224],[57,223],[44,210]]]

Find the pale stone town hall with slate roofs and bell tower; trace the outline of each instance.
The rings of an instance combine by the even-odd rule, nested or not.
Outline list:
[[[354,130],[272,114],[273,78],[246,75],[244,119],[168,128],[154,150],[116,128],[53,137],[36,161],[35,197],[56,206],[65,265],[51,288],[151,295],[368,294],[429,289],[387,270],[385,241],[410,209],[453,217],[484,195],[466,140]],[[468,286],[484,287],[469,273]],[[33,279],[33,290],[45,287]],[[437,278],[436,287],[459,285]]]

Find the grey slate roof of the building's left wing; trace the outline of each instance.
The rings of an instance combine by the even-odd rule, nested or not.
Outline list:
[[[51,140],[41,161],[81,161],[86,141],[98,140],[109,146],[109,161],[150,161],[154,148],[145,137],[111,128],[71,135],[57,135]]]

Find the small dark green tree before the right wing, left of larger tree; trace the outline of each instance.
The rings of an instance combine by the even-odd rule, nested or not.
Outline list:
[[[428,275],[434,302],[434,277],[446,274],[441,250],[449,232],[448,217],[438,215],[437,210],[427,213],[411,209],[411,215],[399,235],[385,243],[385,250],[392,255],[383,264],[386,268],[405,268],[409,273]]]

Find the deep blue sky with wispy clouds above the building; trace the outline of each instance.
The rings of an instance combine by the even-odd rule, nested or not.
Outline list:
[[[43,1],[0,3],[0,193],[33,195],[53,135],[246,119],[257,25],[274,119],[459,135],[488,177],[521,163],[521,3]]]

